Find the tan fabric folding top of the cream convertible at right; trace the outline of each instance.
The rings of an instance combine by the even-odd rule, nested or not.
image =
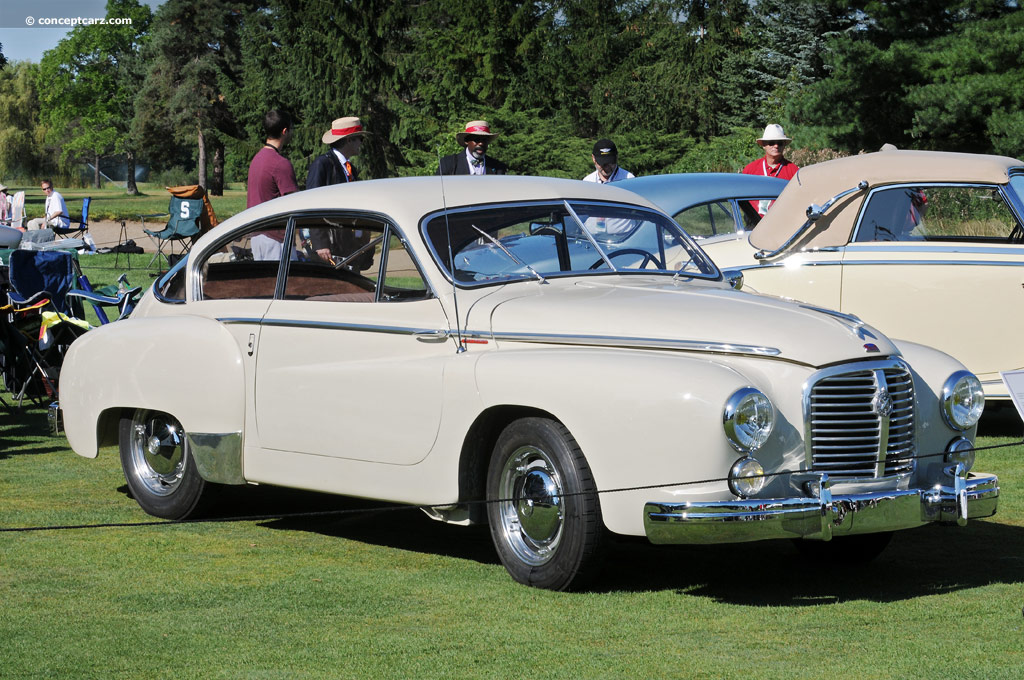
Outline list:
[[[1024,162],[1005,156],[946,152],[893,151],[862,154],[802,168],[790,180],[768,214],[751,232],[751,245],[773,251],[807,220],[807,207],[823,206],[837,194],[866,180],[868,190],[882,184],[903,182],[979,182],[1005,184],[1010,168]],[[843,246],[849,242],[854,221],[867,192],[855,192],[836,203],[788,250]]]

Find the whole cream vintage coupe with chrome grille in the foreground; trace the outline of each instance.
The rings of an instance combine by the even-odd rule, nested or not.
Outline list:
[[[209,482],[431,506],[489,522],[513,578],[553,589],[609,533],[869,552],[998,496],[970,472],[983,398],[959,363],[733,290],[653,204],[572,180],[247,210],[76,341],[60,396],[74,450],[119,444],[154,515]]]

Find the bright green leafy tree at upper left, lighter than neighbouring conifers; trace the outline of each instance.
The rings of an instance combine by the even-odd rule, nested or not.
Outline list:
[[[92,159],[97,188],[100,158],[125,155],[128,194],[134,195],[138,189],[131,104],[141,82],[138,48],[152,14],[137,0],[109,0],[106,15],[132,22],[76,27],[43,55],[41,117],[49,124],[49,141],[60,147],[63,158]]]

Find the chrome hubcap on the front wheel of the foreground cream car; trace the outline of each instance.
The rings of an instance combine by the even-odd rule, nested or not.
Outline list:
[[[506,542],[523,562],[539,565],[554,557],[562,538],[562,482],[550,457],[520,447],[502,469],[499,513]]]

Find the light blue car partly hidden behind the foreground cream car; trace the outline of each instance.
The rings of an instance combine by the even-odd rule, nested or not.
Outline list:
[[[636,177],[615,185],[656,203],[691,237],[706,239],[753,229],[761,220],[759,204],[764,213],[787,183],[778,177],[690,172]]]

